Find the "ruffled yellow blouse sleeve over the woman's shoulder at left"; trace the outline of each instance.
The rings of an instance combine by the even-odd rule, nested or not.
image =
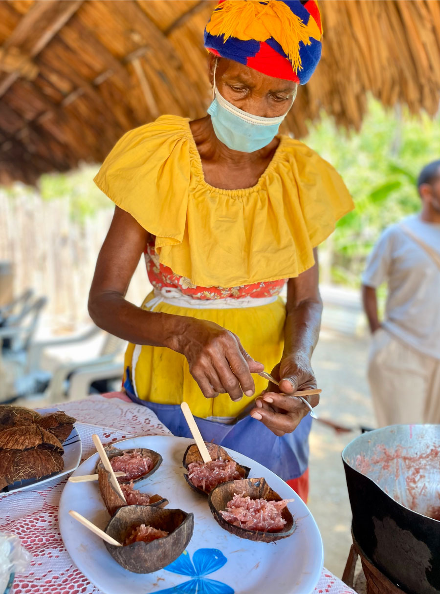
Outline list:
[[[161,116],[124,134],[106,157],[95,184],[156,236],[156,247],[184,237],[190,151],[187,121]]]

